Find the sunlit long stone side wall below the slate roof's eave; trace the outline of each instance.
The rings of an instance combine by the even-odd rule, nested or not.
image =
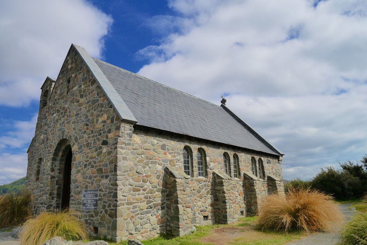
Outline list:
[[[189,226],[187,229],[182,228],[182,223],[195,225],[216,223],[212,179],[214,170],[224,171],[224,152],[230,156],[231,164],[230,180],[225,181],[225,188],[229,190],[223,193],[228,198],[226,203],[228,202],[231,210],[226,217],[229,223],[235,221],[241,212],[246,215],[243,173],[251,172],[251,156],[262,158],[266,174],[280,178],[282,176],[281,157],[278,159],[273,155],[246,151],[138,125],[121,126],[120,136],[117,146],[117,236],[121,239],[148,239],[164,232],[181,235],[192,228]],[[189,179],[167,180],[167,173],[165,173],[167,166],[183,170],[182,149],[185,146],[193,152],[193,176],[188,176]],[[199,148],[205,152],[206,177],[199,177],[197,173],[196,153]],[[239,157],[241,179],[233,177],[233,154]],[[167,184],[167,181],[170,184]],[[261,181],[263,183],[263,180]],[[266,195],[266,188],[267,184],[264,180],[264,193],[261,195]],[[182,196],[185,198],[179,198],[175,193],[183,193]],[[176,198],[174,195],[177,196],[177,204],[184,205],[182,211],[187,216],[187,219],[182,216],[181,220],[174,217],[178,219],[176,225],[170,223],[171,219],[168,220],[171,216],[175,216],[172,210],[172,204]]]

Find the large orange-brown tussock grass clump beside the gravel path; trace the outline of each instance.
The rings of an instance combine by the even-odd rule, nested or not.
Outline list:
[[[261,205],[258,226],[269,230],[330,231],[342,223],[333,197],[316,190],[290,188],[285,196],[270,195]]]

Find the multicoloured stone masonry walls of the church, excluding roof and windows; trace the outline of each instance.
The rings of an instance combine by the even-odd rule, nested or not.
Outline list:
[[[90,62],[73,45],[57,80],[47,78],[41,87],[36,131],[28,149],[26,185],[33,195],[33,215],[58,210],[66,199],[91,235],[144,240],[254,216],[266,195],[284,192],[282,155],[121,118],[117,110],[123,105],[111,102],[117,97],[101,85],[103,75]],[[184,147],[191,152],[191,176],[184,172]],[[198,151],[204,153],[203,177]],[[69,195],[65,181],[70,152]],[[228,174],[224,154],[229,156]],[[256,172],[264,170],[262,179],[252,174],[251,158],[259,159]],[[86,190],[98,191],[94,209],[82,208]]]

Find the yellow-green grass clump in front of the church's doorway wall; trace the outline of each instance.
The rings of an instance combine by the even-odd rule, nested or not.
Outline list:
[[[78,219],[75,211],[44,212],[28,219],[19,233],[22,245],[41,245],[53,237],[66,240],[83,240],[88,238],[84,224]]]

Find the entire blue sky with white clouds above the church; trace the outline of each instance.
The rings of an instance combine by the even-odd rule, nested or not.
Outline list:
[[[364,0],[0,1],[0,184],[26,174],[40,87],[71,43],[227,105],[286,155],[285,179],[367,153]]]

